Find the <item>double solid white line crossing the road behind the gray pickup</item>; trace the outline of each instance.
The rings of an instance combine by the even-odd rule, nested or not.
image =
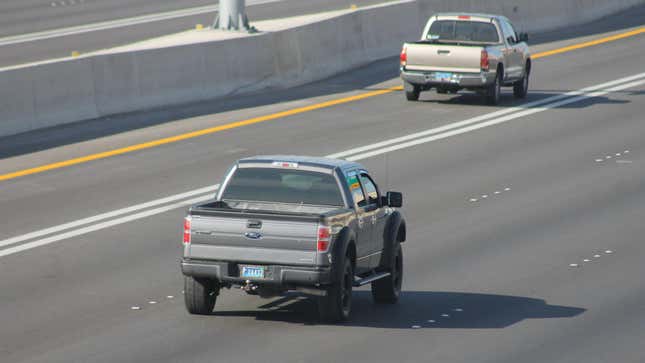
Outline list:
[[[456,130],[449,131],[449,132],[437,134],[437,135],[434,135],[434,136],[431,136],[431,137],[416,139],[416,140],[413,140],[413,141],[410,141],[410,142],[401,143],[401,144],[398,144],[398,145],[394,145],[394,146],[390,146],[390,147],[386,147],[386,148],[382,148],[382,149],[378,149],[378,150],[373,150],[373,151],[363,153],[363,154],[355,154],[355,155],[353,155],[351,157],[348,157],[347,160],[349,160],[349,161],[358,161],[358,160],[367,159],[367,158],[372,157],[372,156],[381,155],[381,154],[384,154],[384,153],[388,153],[388,152],[392,152],[392,151],[396,151],[396,150],[401,150],[401,149],[404,149],[404,148],[409,148],[409,147],[416,146],[416,145],[419,145],[419,144],[424,144],[424,143],[428,143],[428,142],[431,142],[431,141],[448,138],[450,136],[463,134],[463,133],[478,130],[478,129],[481,129],[481,128],[484,128],[484,127],[493,126],[493,125],[497,125],[497,124],[500,124],[500,123],[508,122],[510,120],[520,118],[520,117],[523,117],[523,116],[528,116],[528,115],[532,115],[532,114],[539,113],[539,112],[542,112],[542,111],[557,108],[559,106],[563,106],[563,105],[567,105],[567,104],[570,104],[570,103],[575,103],[575,102],[578,102],[578,101],[582,101],[582,100],[585,100],[585,99],[602,96],[602,95],[605,95],[607,93],[611,93],[611,92],[631,88],[631,87],[634,87],[634,86],[638,86],[640,84],[644,84],[645,80],[639,80],[639,81],[634,81],[634,82],[630,82],[630,83],[626,83],[626,84],[621,84],[619,86],[609,88],[609,89],[606,89],[606,90],[601,90],[601,91],[596,91],[596,92],[585,94],[585,92],[588,91],[588,90],[597,90],[599,88],[607,87],[608,85],[613,85],[613,84],[617,84],[617,83],[623,83],[623,82],[630,81],[630,80],[633,80],[633,79],[638,79],[638,78],[641,78],[641,77],[644,77],[644,76],[645,76],[645,73],[640,73],[638,75],[625,77],[625,78],[615,80],[615,81],[612,81],[612,82],[603,83],[603,84],[598,85],[598,86],[592,86],[592,87],[581,89],[579,91],[569,92],[569,94],[577,94],[578,96],[577,97],[565,98],[565,99],[563,99],[561,101],[556,101],[556,102],[552,102],[552,103],[549,103],[549,104],[544,104],[544,105],[542,105],[542,107],[535,107],[535,108],[530,108],[530,109],[519,108],[519,109],[523,109],[524,111],[517,112],[517,113],[511,114],[511,115],[507,115],[505,117],[492,119],[492,120],[489,120],[488,122],[482,122],[482,123],[479,123],[479,124],[471,125],[469,127],[463,127],[463,128],[459,128],[459,129],[456,129]],[[563,96],[563,95],[560,95],[560,96]],[[556,96],[556,97],[562,98],[560,96]],[[542,101],[544,101],[544,100],[542,100]],[[497,111],[497,114],[500,114],[499,112],[500,111]],[[496,112],[493,112],[492,114],[495,114],[495,113]],[[490,115],[488,115],[488,116],[489,116],[488,118],[490,118]],[[462,124],[462,123],[463,122],[458,122],[458,123],[451,124],[451,125]],[[446,126],[450,126],[450,125],[446,125]],[[453,126],[453,128],[454,127],[456,127],[456,126]],[[436,129],[432,129],[432,130],[436,130]],[[428,130],[428,131],[431,131],[431,130]],[[424,132],[427,132],[427,131],[424,131]],[[413,134],[413,135],[418,135],[418,134],[422,134],[422,133],[416,133],[416,134]],[[408,135],[408,136],[411,136],[411,135]],[[401,139],[401,138],[397,138],[397,139]],[[372,144],[372,145],[377,145],[377,144],[382,145],[382,144],[384,144],[384,142],[380,142],[380,143],[376,143],[376,144]],[[364,146],[362,148],[367,148],[368,150],[371,150],[373,147],[371,145],[366,145],[366,146]],[[356,150],[356,149],[353,149],[353,150]],[[326,157],[334,157],[334,155],[337,155],[337,154],[328,155]],[[100,220],[111,218],[111,217],[114,217],[114,216],[130,213],[130,212],[137,211],[137,210],[140,210],[140,209],[144,209],[144,208],[147,208],[147,207],[156,206],[156,205],[159,205],[159,204],[164,204],[164,203],[167,203],[167,202],[175,201],[175,200],[182,199],[182,198],[185,198],[185,197],[200,194],[201,192],[213,193],[217,188],[219,188],[219,184],[199,188],[199,189],[196,189],[196,190],[193,190],[193,191],[188,191],[188,192],[181,193],[181,194],[176,194],[174,196],[169,196],[169,197],[166,197],[166,198],[153,200],[153,201],[150,201],[150,202],[146,202],[146,203],[138,204],[138,205],[135,205],[135,206],[119,209],[119,210],[116,210],[116,211],[99,214],[99,215],[96,215],[96,216],[93,216],[93,217],[88,217],[88,218],[84,218],[84,219],[81,219],[81,220],[78,220],[78,221],[65,223],[65,224],[62,224],[62,225],[59,225],[59,226],[46,228],[46,229],[43,229],[43,230],[31,232],[31,233],[28,233],[28,234],[25,234],[25,235],[12,237],[12,238],[0,241],[0,247],[1,246],[6,246],[6,245],[9,245],[9,244],[14,244],[14,243],[17,243],[17,242],[21,242],[21,241],[24,241],[24,240],[27,240],[27,239],[40,237],[40,236],[43,236],[43,235],[46,235],[46,234],[62,231],[62,230],[65,230],[65,229],[74,228],[74,227],[77,227],[77,226],[80,226],[80,225],[100,221]],[[100,230],[100,229],[103,229],[103,228],[108,228],[108,227],[111,227],[111,226],[114,226],[114,225],[117,225],[117,224],[122,224],[122,223],[130,222],[132,220],[136,220],[136,219],[148,217],[148,216],[151,216],[151,215],[163,213],[163,212],[175,209],[175,208],[179,208],[179,207],[186,206],[186,205],[191,205],[191,204],[198,203],[200,201],[208,200],[208,199],[211,199],[211,197],[201,196],[199,198],[178,202],[178,203],[171,204],[171,205],[168,205],[168,206],[164,206],[164,207],[161,207],[161,208],[156,208],[156,209],[152,209],[152,210],[149,210],[149,211],[144,211],[144,212],[137,213],[137,214],[134,214],[134,215],[114,219],[114,220],[111,220],[111,221],[99,223],[99,224],[84,227],[84,228],[81,228],[81,229],[76,229],[76,230],[71,231],[71,232],[62,233],[60,235],[48,237],[48,238],[45,238],[45,239],[42,239],[42,240],[37,240],[37,241],[22,244],[22,245],[19,245],[19,246],[7,248],[7,249],[4,249],[4,250],[0,250],[0,257],[6,256],[6,255],[9,255],[9,254],[13,254],[13,253],[16,253],[16,252],[24,251],[24,250],[27,250],[27,249],[31,249],[31,248],[34,248],[34,247],[46,245],[46,244],[53,243],[53,242],[56,242],[56,241],[60,241],[60,240],[65,239],[65,238],[70,238],[70,237],[78,236],[78,235],[81,235],[81,234],[94,232],[94,231],[97,231],[97,230]]]

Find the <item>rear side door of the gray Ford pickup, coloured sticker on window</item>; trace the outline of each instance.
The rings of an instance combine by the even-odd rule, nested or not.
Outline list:
[[[347,185],[352,193],[354,210],[356,210],[356,273],[362,273],[370,268],[370,251],[372,249],[372,222],[366,211],[367,199],[358,180],[358,171],[346,174]]]

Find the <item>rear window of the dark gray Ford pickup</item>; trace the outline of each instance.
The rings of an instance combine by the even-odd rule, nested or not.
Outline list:
[[[336,179],[330,174],[277,168],[240,168],[224,190],[222,200],[243,200],[343,206]]]

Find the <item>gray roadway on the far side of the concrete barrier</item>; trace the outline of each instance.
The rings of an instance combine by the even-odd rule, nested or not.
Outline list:
[[[357,2],[357,4],[359,6],[368,6],[382,2],[382,0],[364,0]],[[129,2],[127,3],[129,4]],[[162,2],[160,4],[158,4],[158,2],[147,1],[145,3],[145,6],[143,6],[144,4],[138,4],[140,6],[132,9],[127,4],[97,4],[101,6],[96,8],[89,8],[82,13],[70,11],[71,8],[67,10],[65,8],[54,8],[57,9],[55,10],[55,13],[61,14],[47,18],[48,21],[46,22],[42,22],[42,14],[31,15],[41,21],[33,19],[19,20],[11,18],[12,23],[4,27],[4,29],[8,30],[3,31],[2,36],[27,34],[37,31],[58,29],[67,26],[85,25],[100,21],[131,18],[138,15],[154,14],[163,11],[172,11],[200,5],[213,5],[216,4],[216,2],[195,0],[194,3],[185,6],[177,6],[178,3],[172,1]],[[109,5],[110,7],[103,8],[106,5]],[[247,15],[249,17],[251,25],[253,25],[253,21],[258,20],[305,15],[322,11],[345,9],[348,7],[349,3],[346,0],[285,0],[265,4],[252,4],[248,2]],[[65,37],[57,37],[2,46],[2,52],[0,52],[0,67],[68,57],[70,56],[70,53],[72,51],[88,53],[101,49],[135,43],[150,38],[194,29],[196,24],[209,26],[215,20],[216,15],[216,12],[205,13],[201,15],[156,21],[110,30],[88,32]],[[34,26],[34,24],[43,25]],[[0,26],[0,29],[3,29],[3,27]]]

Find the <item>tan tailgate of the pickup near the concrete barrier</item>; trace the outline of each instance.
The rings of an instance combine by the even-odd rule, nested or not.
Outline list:
[[[479,73],[480,46],[408,43],[406,70]]]

